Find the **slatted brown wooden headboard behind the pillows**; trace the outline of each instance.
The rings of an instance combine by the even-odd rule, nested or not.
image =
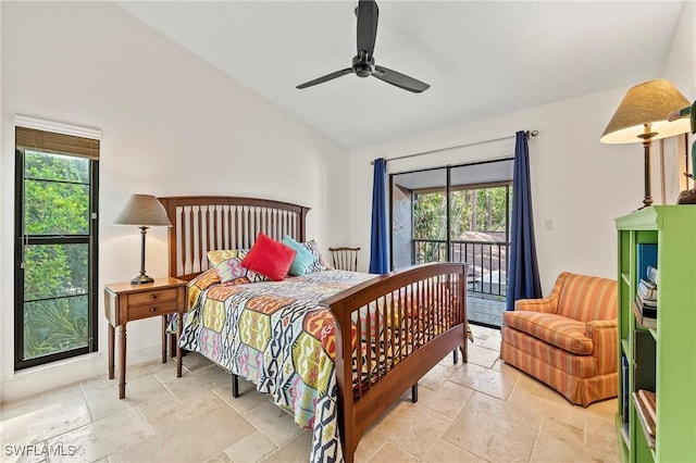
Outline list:
[[[258,198],[179,196],[159,198],[172,222],[169,229],[170,276],[190,280],[209,268],[214,249],[249,249],[260,232],[281,240],[286,234],[306,240],[310,208]]]

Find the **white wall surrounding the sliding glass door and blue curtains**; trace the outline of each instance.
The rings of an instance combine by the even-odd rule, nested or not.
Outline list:
[[[673,32],[670,55],[666,57],[664,74],[645,78],[671,79],[689,101],[696,98],[695,5],[695,2],[684,2],[678,28]],[[514,85],[514,82],[510,84]],[[562,271],[616,278],[614,218],[642,205],[643,147],[639,143],[602,145],[599,136],[627,88],[635,84],[638,83],[627,83],[626,87],[351,152],[350,238],[351,242],[368,250],[362,270],[368,267],[370,249],[370,161],[497,139],[514,135],[517,130],[536,129],[539,135],[530,139],[530,162],[544,293],[550,292],[556,277]],[[652,155],[654,165],[659,159],[658,150],[659,146]],[[388,162],[387,172],[462,164],[509,157],[513,152],[514,139],[509,139]],[[674,172],[674,175],[680,174]],[[659,191],[658,168],[652,168],[652,191]],[[667,198],[666,202],[674,203],[675,199]],[[554,230],[544,229],[545,218],[554,221]]]

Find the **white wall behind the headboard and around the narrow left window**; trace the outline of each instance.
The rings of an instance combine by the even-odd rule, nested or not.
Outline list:
[[[99,288],[139,271],[139,232],[111,222],[130,193],[238,195],[312,208],[308,234],[347,238],[347,152],[279,108],[156,34],[94,2],[2,2],[0,195],[1,400],[107,370],[100,354],[13,372],[15,114],[100,128]],[[330,207],[331,205],[331,207]],[[147,265],[166,275],[164,228],[148,233]],[[128,328],[135,362],[158,358],[160,323]],[[58,374],[57,374],[58,372]]]

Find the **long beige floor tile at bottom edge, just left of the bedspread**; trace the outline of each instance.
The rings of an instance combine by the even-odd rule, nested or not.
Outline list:
[[[109,455],[111,463],[204,461],[254,431],[241,415],[225,405],[189,416],[177,426],[141,439]]]

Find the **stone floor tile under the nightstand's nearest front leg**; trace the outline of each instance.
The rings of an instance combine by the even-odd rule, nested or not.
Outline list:
[[[92,420],[101,420],[117,412],[130,409],[159,395],[169,396],[162,383],[152,375],[126,380],[126,397],[119,399],[119,379],[111,379],[108,387],[102,381],[83,383],[87,406]]]

